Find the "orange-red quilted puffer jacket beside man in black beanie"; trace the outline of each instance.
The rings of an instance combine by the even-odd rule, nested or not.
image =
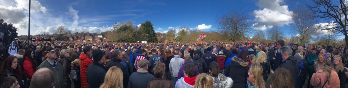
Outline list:
[[[81,53],[80,55],[80,74],[81,74],[81,87],[82,88],[88,88],[87,83],[87,68],[90,64],[93,63],[92,58],[87,56],[84,53]]]

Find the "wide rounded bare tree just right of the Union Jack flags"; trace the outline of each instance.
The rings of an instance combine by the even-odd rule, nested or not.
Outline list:
[[[252,33],[248,20],[250,16],[240,10],[224,13],[216,18],[217,32],[233,42],[239,41]]]

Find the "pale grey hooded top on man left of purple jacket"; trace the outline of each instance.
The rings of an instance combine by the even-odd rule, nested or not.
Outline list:
[[[177,77],[182,64],[184,64],[184,59],[180,58],[179,55],[174,55],[174,58],[169,62],[169,71],[173,74],[173,77]]]

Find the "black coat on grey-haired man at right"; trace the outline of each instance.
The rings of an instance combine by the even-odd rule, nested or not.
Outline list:
[[[294,86],[297,87],[299,75],[299,65],[297,64],[297,59],[294,56],[289,56],[279,67],[283,67],[290,71],[290,73],[292,74]]]

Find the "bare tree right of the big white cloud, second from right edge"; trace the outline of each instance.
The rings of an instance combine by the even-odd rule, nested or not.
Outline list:
[[[293,14],[291,14],[292,21],[290,24],[293,29],[293,34],[297,35],[301,43],[307,42],[310,38],[319,35],[319,28],[315,27],[317,20],[314,13],[310,10],[300,7]]]

